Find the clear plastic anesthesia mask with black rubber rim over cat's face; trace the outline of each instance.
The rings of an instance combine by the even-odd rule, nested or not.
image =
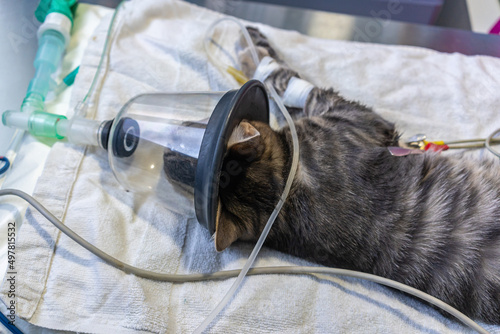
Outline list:
[[[258,81],[229,92],[136,96],[111,126],[111,168],[126,190],[196,216],[213,233],[222,160],[243,119],[269,120],[267,94]]]

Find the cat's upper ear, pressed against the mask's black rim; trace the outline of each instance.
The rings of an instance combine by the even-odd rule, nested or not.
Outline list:
[[[264,151],[260,132],[250,123],[242,121],[234,128],[227,143],[231,154],[252,161],[259,158]]]

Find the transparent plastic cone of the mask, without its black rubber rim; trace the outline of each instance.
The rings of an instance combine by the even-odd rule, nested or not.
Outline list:
[[[162,93],[131,99],[117,115],[108,143],[111,167],[124,188],[194,216],[196,162],[208,120],[223,95]]]

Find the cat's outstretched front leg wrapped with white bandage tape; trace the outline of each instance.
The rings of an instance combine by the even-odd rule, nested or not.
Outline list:
[[[300,79],[271,47],[268,39],[256,28],[247,27],[253,44],[257,48],[260,64],[255,68],[246,66],[248,77],[256,77],[271,84],[283,97],[292,117],[321,116],[329,122],[343,123],[362,132],[366,144],[376,146],[397,146],[398,134],[394,124],[386,121],[372,109],[355,101],[343,98],[332,88],[318,88]],[[274,59],[273,62],[269,58]],[[240,61],[254,64],[250,50],[244,50]],[[252,72],[253,71],[253,72]]]

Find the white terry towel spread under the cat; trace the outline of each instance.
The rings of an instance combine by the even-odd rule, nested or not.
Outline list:
[[[145,92],[229,89],[202,41],[221,15],[178,1],[134,1],[113,44],[96,119],[114,117]],[[90,85],[109,17],[95,32],[77,77],[72,106]],[[373,106],[405,134],[436,139],[485,137],[500,126],[500,60],[422,48],[322,40],[255,24],[285,61],[317,86],[333,86]],[[160,201],[126,192],[106,152],[58,143],[34,196],[65,224],[109,254],[145,269],[200,273],[241,268],[252,245],[217,253],[207,230]],[[29,210],[17,242],[17,315],[50,329],[89,333],[192,332],[234,279],[153,282],[114,269]],[[256,266],[306,261],[264,248]],[[1,298],[9,301],[3,284]],[[500,333],[500,326],[486,326]],[[210,327],[213,333],[462,333],[414,298],[374,283],[332,277],[247,278]]]

